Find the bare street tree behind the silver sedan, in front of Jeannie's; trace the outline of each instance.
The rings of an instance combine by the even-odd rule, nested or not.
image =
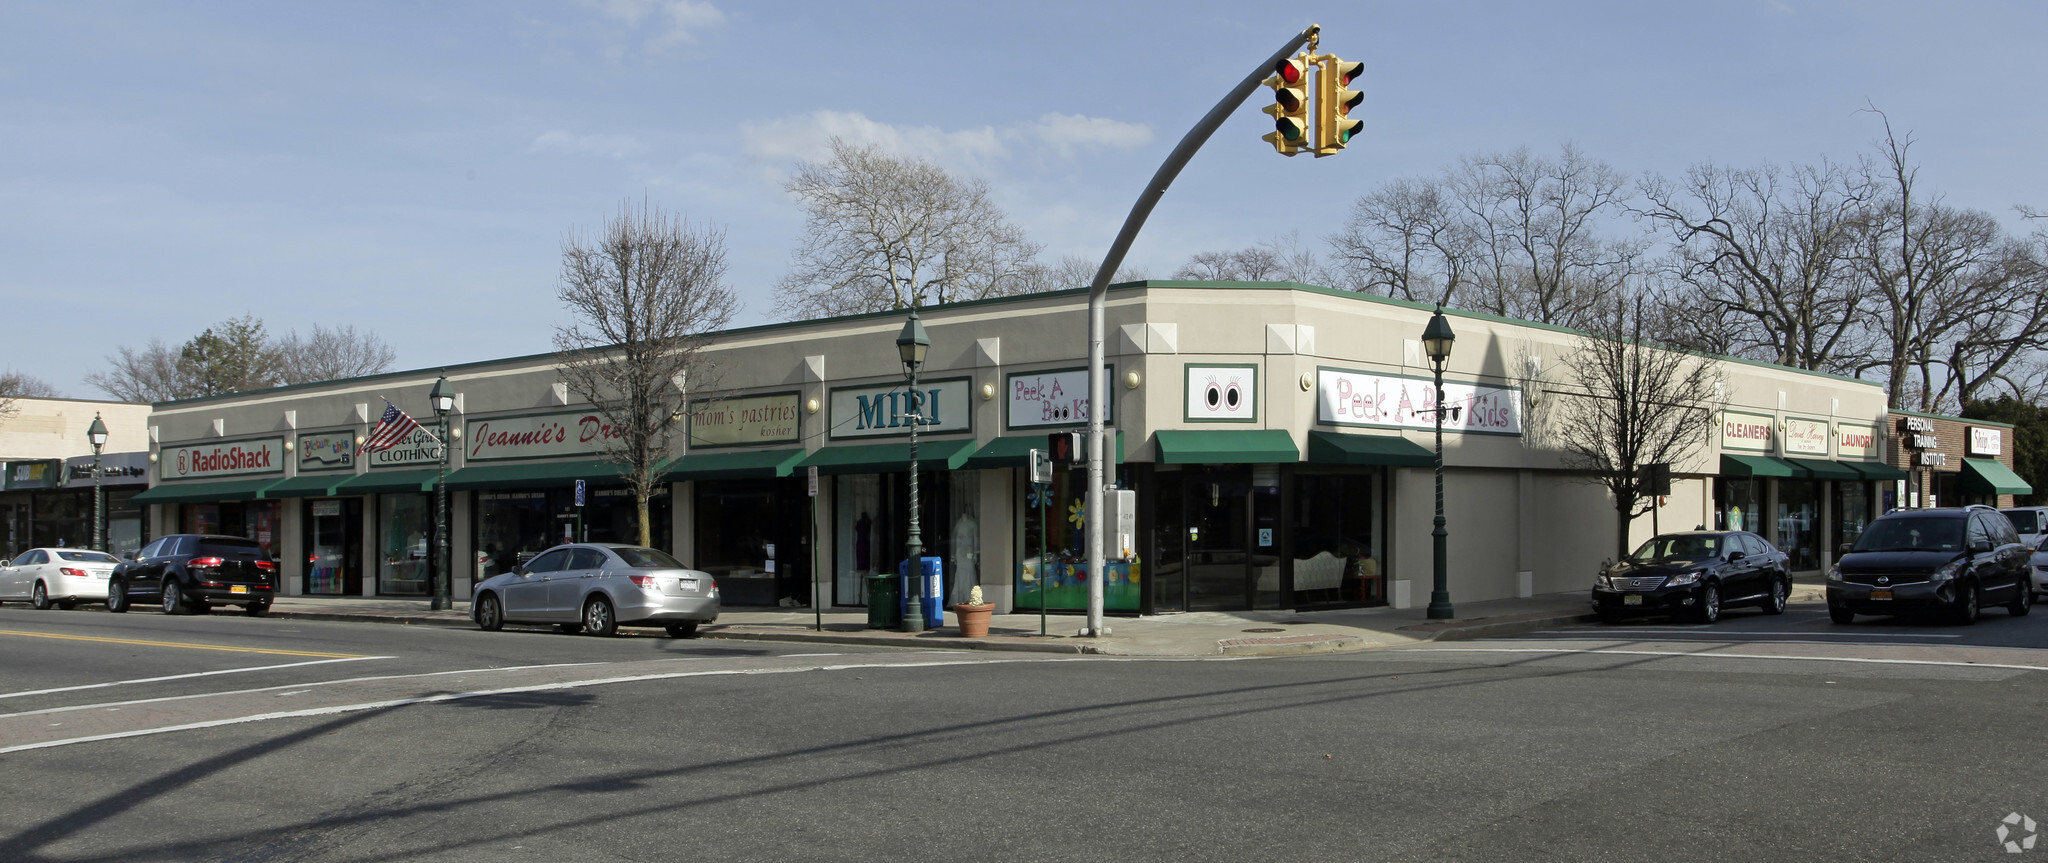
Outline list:
[[[575,324],[555,330],[561,377],[604,424],[602,457],[621,467],[651,545],[647,500],[674,451],[690,392],[715,379],[705,346],[731,322],[739,299],[725,285],[725,234],[629,203],[602,234],[561,244],[555,295]]]

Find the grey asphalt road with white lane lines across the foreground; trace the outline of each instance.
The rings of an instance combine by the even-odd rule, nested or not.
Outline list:
[[[6,607],[0,861],[2025,859],[2048,615],[1829,627],[1116,660]]]

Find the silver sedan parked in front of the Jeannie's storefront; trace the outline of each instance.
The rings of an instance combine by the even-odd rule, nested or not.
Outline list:
[[[559,631],[610,635],[618,625],[657,625],[670,638],[694,638],[698,623],[719,619],[719,582],[662,549],[571,543],[485,578],[471,590],[469,609],[485,631],[553,623]]]

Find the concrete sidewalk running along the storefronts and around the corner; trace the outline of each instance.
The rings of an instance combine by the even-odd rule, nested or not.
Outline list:
[[[1110,617],[1108,635],[1079,638],[1079,615],[1047,615],[1044,635],[1038,615],[995,615],[987,638],[961,638],[952,613],[936,631],[901,633],[868,629],[866,609],[827,609],[823,629],[809,609],[725,609],[702,638],[756,642],[864,644],[874,648],[1024,650],[1104,656],[1292,656],[1393,648],[1417,642],[1450,642],[1503,635],[1595,619],[1587,590],[1458,603],[1458,617],[1430,621],[1423,609],[1335,609],[1335,611],[1196,611],[1153,617]],[[1815,584],[1798,584],[1792,601],[1817,601]],[[319,621],[412,623],[473,627],[469,603],[453,611],[428,611],[424,599],[362,597],[281,597],[272,617]],[[631,627],[629,627],[631,629]]]

